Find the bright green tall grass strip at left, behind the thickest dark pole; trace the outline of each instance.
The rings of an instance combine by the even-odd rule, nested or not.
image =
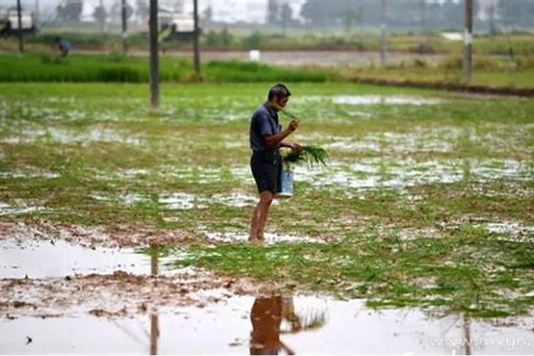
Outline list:
[[[125,82],[147,83],[147,58],[122,56],[69,56],[58,58],[43,54],[23,57],[0,56],[0,81],[6,82]],[[211,61],[202,67],[206,81],[257,82],[293,81],[324,82],[334,75],[327,70],[286,69],[258,63]],[[191,61],[160,58],[160,80],[191,82],[194,70]]]

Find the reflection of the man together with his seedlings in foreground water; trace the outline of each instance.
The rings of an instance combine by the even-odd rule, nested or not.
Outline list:
[[[287,322],[287,330],[282,327],[283,321]],[[254,300],[251,323],[251,355],[278,355],[281,351],[295,355],[293,349],[281,340],[281,335],[322,328],[326,318],[324,311],[298,315],[293,297],[275,295]]]

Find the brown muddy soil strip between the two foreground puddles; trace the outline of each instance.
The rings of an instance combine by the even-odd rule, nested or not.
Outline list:
[[[98,317],[127,317],[155,308],[203,307],[218,303],[219,296],[202,296],[201,290],[223,288],[221,295],[273,293],[247,279],[211,273],[177,273],[173,276],[135,276],[123,271],[63,278],[0,280],[0,315],[13,320],[21,316],[51,318],[89,313]]]

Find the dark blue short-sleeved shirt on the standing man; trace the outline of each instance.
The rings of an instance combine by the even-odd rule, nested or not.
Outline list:
[[[257,152],[272,149],[273,147],[267,147],[263,142],[263,135],[277,135],[278,132],[278,113],[268,103],[258,106],[251,118],[251,150]]]

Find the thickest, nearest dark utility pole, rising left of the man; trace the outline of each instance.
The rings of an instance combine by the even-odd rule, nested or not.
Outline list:
[[[159,48],[157,43],[157,0],[150,0],[150,106],[159,109]]]

